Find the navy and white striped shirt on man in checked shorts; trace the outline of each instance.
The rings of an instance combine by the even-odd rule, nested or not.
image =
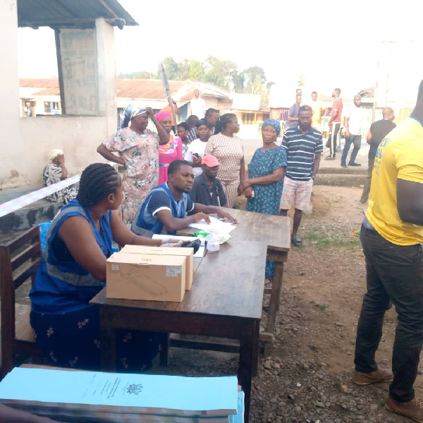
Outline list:
[[[286,148],[286,176],[293,180],[309,180],[312,177],[314,154],[323,152],[321,133],[314,128],[303,134],[300,128],[290,128],[283,135]]]

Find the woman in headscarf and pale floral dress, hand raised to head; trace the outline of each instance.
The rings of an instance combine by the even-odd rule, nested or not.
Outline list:
[[[148,118],[156,125],[157,133],[147,129]],[[169,135],[154,117],[152,108],[140,109],[130,104],[125,109],[122,128],[97,148],[104,159],[125,166],[122,218],[127,226],[132,224],[145,197],[159,182],[159,145],[168,142]]]

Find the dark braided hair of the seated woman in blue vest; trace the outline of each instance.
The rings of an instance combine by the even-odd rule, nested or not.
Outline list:
[[[120,185],[121,177],[112,166],[105,163],[90,164],[82,172],[76,200],[82,206],[93,206],[116,192]]]

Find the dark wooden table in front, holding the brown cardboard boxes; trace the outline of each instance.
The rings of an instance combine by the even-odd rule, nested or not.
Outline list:
[[[90,301],[99,306],[102,370],[116,369],[116,329],[238,340],[238,381],[245,393],[248,422],[251,379],[257,372],[264,257],[266,244],[245,240],[226,243],[220,252],[195,259],[192,289],[182,302],[106,298],[104,288]]]

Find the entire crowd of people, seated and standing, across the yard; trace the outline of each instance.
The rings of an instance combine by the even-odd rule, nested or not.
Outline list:
[[[338,151],[340,94],[338,88],[333,90],[326,143],[330,160]],[[204,109],[200,100],[196,95],[199,111]],[[317,100],[317,92],[309,104],[302,104],[297,93],[281,145],[277,142],[280,121],[264,121],[262,145],[247,169],[237,116],[203,111],[204,116],[199,112],[200,116],[192,115],[175,128],[166,110],[154,115],[150,108],[128,106],[122,128],[97,149],[105,159],[124,166],[123,179],[108,164],[92,164],[83,171],[78,192],[60,194],[66,205],[51,223],[47,250],[30,293],[32,328],[54,364],[99,367],[99,316],[89,301],[105,284],[113,241],[183,247],[176,240],[152,240],[152,235],[171,238],[190,223],[209,222],[209,214],[234,221],[221,207],[231,208],[237,196],[245,195],[249,212],[287,216],[293,206],[291,241],[302,244],[298,229],[323,153],[323,136],[317,127],[329,114]],[[422,422],[422,402],[415,399],[412,386],[423,345],[423,81],[410,118],[398,127],[394,118],[393,109],[386,107],[383,118],[372,123],[367,134],[369,173],[360,200],[364,203],[369,197],[360,231],[367,293],[357,327],[353,381],[359,385],[392,381],[388,410]],[[147,129],[149,119],[157,132]],[[361,97],[355,96],[343,121],[342,167],[359,166],[355,159],[362,120]],[[66,178],[63,152],[51,152],[50,160],[44,169],[46,180]],[[273,272],[274,262],[267,261],[268,286]],[[374,355],[384,313],[392,303],[398,328],[390,372],[378,369]],[[116,338],[118,369],[151,367],[159,350],[157,336],[121,331]]]

